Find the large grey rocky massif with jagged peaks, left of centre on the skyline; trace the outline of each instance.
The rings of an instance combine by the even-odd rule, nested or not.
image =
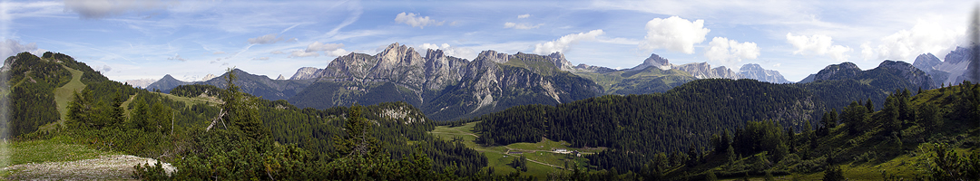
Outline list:
[[[473,61],[427,50],[425,56],[394,43],[370,56],[351,53],[326,68],[300,68],[292,79],[316,83],[289,99],[325,109],[354,103],[404,101],[434,119],[489,113],[526,104],[558,104],[601,95],[594,82],[561,53],[548,56],[483,51]]]

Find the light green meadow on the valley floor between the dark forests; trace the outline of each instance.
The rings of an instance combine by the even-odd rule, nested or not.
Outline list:
[[[483,153],[487,157],[488,166],[494,168],[495,173],[512,173],[515,171],[513,167],[508,165],[514,160],[515,157],[520,157],[517,154],[507,154],[508,152],[522,152],[524,157],[539,161],[551,165],[546,165],[534,161],[527,161],[527,172],[524,174],[533,175],[539,179],[545,179],[548,173],[562,171],[560,167],[564,167],[564,161],[568,160],[569,165],[579,164],[585,165],[584,158],[571,157],[564,154],[552,153],[554,149],[566,149],[570,151],[579,151],[582,153],[597,153],[604,149],[577,149],[568,148],[565,142],[555,142],[548,139],[542,140],[538,143],[515,143],[507,146],[494,146],[494,147],[483,147],[473,142],[476,140],[476,135],[473,134],[473,125],[477,122],[469,122],[466,125],[458,127],[449,126],[437,126],[432,133],[435,136],[441,137],[444,140],[453,140],[455,137],[462,137],[466,147],[472,148],[477,152]],[[505,158],[506,157],[506,158]],[[559,166],[559,167],[554,167]],[[585,169],[585,167],[580,167]]]

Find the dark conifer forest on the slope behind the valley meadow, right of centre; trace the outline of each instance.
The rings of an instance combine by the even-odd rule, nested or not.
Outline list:
[[[548,137],[573,147],[609,147],[608,154],[589,156],[590,161],[602,168],[638,171],[649,159],[646,153],[682,152],[690,144],[709,146],[711,134],[700,133],[741,127],[745,120],[767,119],[777,110],[806,110],[797,107],[806,95],[799,88],[757,80],[702,79],[662,94],[514,107],[474,118],[481,121],[474,130],[480,135],[477,141],[487,145]]]

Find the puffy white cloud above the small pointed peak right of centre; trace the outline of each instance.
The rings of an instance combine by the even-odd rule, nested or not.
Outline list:
[[[694,54],[694,44],[705,41],[711,29],[705,28],[704,20],[694,22],[670,17],[647,22],[647,36],[640,42],[641,49],[667,49]]]

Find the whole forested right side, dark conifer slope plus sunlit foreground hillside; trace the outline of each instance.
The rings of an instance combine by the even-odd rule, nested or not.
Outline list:
[[[823,112],[811,99],[793,85],[703,79],[662,94],[521,106],[467,121],[479,121],[474,131],[487,145],[548,138],[573,147],[610,148],[586,156],[606,171],[559,178],[711,180],[792,174],[825,180],[950,180],[980,174],[980,84],[895,91],[880,111],[858,99],[841,112]]]

